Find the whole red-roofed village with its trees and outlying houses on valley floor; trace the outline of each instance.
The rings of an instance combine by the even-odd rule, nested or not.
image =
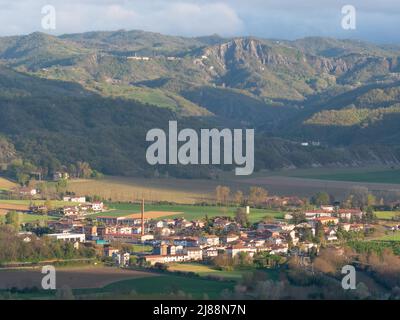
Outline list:
[[[36,191],[27,188],[21,192],[36,195]],[[47,222],[50,232],[43,236],[72,242],[75,248],[95,248],[98,256],[119,267],[129,267],[132,261],[142,267],[181,262],[209,264],[221,256],[233,261],[240,255],[253,257],[261,253],[299,256],[309,261],[318,254],[321,244],[339,246],[339,234],[368,234],[375,223],[371,213],[360,208],[327,204],[304,209],[297,197],[266,197],[265,205],[284,208],[283,219],[255,223],[249,223],[253,210],[249,205],[238,208],[234,217],[205,215],[187,220],[184,215],[154,218],[152,212],[145,211],[144,200],[140,213],[124,216],[114,215],[103,201],[88,202],[85,196],[64,196],[62,200],[69,205],[52,210],[45,205],[30,206],[30,214],[55,217]],[[399,229],[395,225],[390,231]],[[36,237],[32,232],[19,234],[24,241]],[[141,246],[147,250],[141,250]]]

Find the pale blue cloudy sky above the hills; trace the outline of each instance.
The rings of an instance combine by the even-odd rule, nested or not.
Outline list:
[[[44,30],[42,8],[56,9]],[[342,7],[356,9],[344,30]],[[141,29],[171,35],[356,38],[400,43],[400,0],[0,0],[0,35]]]

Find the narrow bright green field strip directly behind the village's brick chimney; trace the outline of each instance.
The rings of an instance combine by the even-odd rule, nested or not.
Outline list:
[[[107,203],[107,206],[112,209],[107,213],[94,214],[93,217],[99,215],[110,215],[110,216],[124,216],[132,213],[140,212],[140,204],[130,203]],[[215,216],[231,216],[233,217],[236,211],[236,207],[218,207],[218,206],[195,206],[195,205],[146,205],[146,211],[176,211],[183,212],[183,214],[168,215],[169,218],[185,217],[187,220],[202,219],[205,215],[208,217]],[[264,217],[282,219],[284,216],[283,212],[266,210],[266,209],[250,209],[250,221],[257,222],[262,220]],[[167,216],[166,216],[167,217]]]

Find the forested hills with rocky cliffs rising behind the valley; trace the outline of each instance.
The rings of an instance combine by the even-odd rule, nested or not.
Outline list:
[[[395,165],[400,46],[144,31],[3,37],[0,114],[0,153],[12,150],[0,160],[15,153],[49,172],[85,160],[152,175],[144,137],[168,119],[256,128],[256,169]]]

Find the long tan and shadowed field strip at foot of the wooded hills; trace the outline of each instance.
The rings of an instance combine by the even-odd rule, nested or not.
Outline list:
[[[98,195],[114,202],[169,201],[198,204],[215,199],[218,185],[247,193],[252,186],[266,188],[270,194],[310,197],[321,190],[337,199],[343,198],[354,185],[371,190],[400,189],[400,169],[370,168],[314,168],[261,171],[246,177],[222,173],[218,180],[176,178],[128,178],[106,176],[100,180],[78,179],[68,182],[67,190],[78,195]]]

